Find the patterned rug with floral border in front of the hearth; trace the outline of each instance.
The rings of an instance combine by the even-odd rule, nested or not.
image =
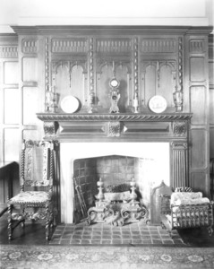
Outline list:
[[[2,269],[214,268],[212,247],[0,247]]]

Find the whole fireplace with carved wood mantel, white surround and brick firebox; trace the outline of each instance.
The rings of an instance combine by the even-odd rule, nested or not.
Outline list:
[[[188,186],[189,113],[39,113],[38,117],[44,121],[45,139],[60,143],[61,222],[73,223],[78,204],[73,178],[83,182],[88,206],[98,194],[99,178],[105,185],[134,178],[141,203],[149,210],[152,187],[162,181],[171,187]]]

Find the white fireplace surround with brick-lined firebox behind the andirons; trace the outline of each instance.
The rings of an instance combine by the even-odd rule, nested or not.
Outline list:
[[[95,204],[97,182],[109,187],[136,183],[137,200],[150,211],[150,191],[169,185],[169,143],[61,143],[61,221],[82,218],[75,184],[87,210]],[[75,215],[75,213],[77,213]]]

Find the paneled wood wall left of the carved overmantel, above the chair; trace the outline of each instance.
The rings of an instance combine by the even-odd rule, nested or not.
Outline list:
[[[0,36],[0,161],[19,161],[21,139],[40,139],[38,41]],[[44,92],[44,91],[43,91]],[[40,129],[39,129],[40,126]]]

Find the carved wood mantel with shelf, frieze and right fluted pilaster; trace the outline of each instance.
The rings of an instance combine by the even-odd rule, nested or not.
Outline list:
[[[56,114],[38,113],[45,139],[59,142],[170,143],[171,187],[188,186],[188,129],[191,113]]]

